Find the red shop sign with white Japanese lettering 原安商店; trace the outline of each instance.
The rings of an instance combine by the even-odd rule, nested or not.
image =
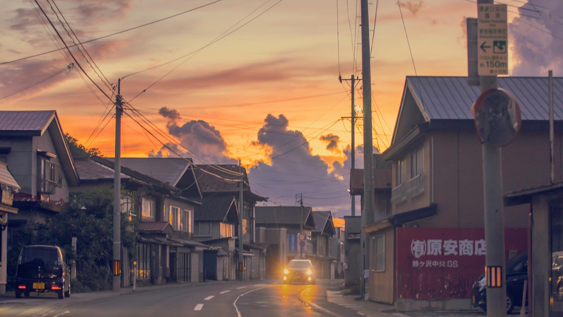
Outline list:
[[[524,252],[526,228],[505,229],[505,250]],[[397,228],[397,298],[471,298],[485,271],[483,228]]]

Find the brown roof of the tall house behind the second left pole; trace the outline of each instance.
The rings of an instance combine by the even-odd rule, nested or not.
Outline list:
[[[244,187],[243,187],[243,191],[244,191],[244,195],[247,195],[247,197],[251,197],[254,200],[257,201],[266,201],[267,198],[266,197],[262,197],[260,195],[257,195],[256,193],[253,193],[251,191],[251,188],[249,186],[248,183],[248,175],[246,172],[246,169],[243,168],[242,166],[238,166],[235,164],[214,164],[214,165],[197,165],[194,168],[194,173],[195,176],[198,180],[198,184],[200,187],[200,190],[202,191],[203,195],[205,195],[205,193],[209,194],[209,193],[213,193],[214,196],[217,195],[217,193],[238,193],[239,192],[239,182],[232,182],[230,180],[235,180],[235,179],[240,179],[240,176],[229,173],[228,171],[233,171],[234,173],[242,173],[243,177],[244,177]],[[209,173],[205,173],[204,171],[208,171],[209,173],[215,174],[221,178],[218,178],[214,175],[211,175]]]

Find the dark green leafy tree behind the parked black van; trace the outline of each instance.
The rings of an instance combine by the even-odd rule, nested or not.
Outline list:
[[[121,218],[121,243],[129,250],[130,258],[136,248],[137,220],[135,217]],[[19,250],[24,245],[47,244],[65,249],[68,259],[77,264],[77,279],[74,291],[104,290],[111,286],[111,263],[113,263],[113,189],[101,188],[95,192],[70,197],[65,208],[47,223],[34,223],[21,230],[16,248],[12,248],[10,259],[17,261]],[[77,250],[73,253],[72,237],[77,237]],[[11,263],[11,262],[8,262]],[[15,265],[8,270],[15,275]]]

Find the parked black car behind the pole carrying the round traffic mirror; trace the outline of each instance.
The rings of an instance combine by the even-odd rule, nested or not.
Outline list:
[[[522,306],[522,292],[524,292],[524,281],[528,279],[528,253],[524,252],[511,258],[506,263],[506,313],[514,309],[514,306]],[[486,303],[486,280],[485,275],[473,283],[472,303],[473,307],[481,307],[487,310]],[[526,299],[528,305],[528,299]]]

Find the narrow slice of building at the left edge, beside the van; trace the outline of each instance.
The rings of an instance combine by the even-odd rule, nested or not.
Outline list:
[[[8,170],[5,162],[0,162],[0,294],[6,294],[8,259],[8,214],[17,214],[12,206],[14,194],[21,190],[20,184]]]

